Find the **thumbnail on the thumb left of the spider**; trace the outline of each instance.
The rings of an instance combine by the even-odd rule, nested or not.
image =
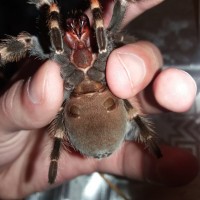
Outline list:
[[[41,104],[44,99],[46,86],[46,76],[43,81],[38,81],[37,77],[30,77],[27,81],[27,94],[33,104]]]

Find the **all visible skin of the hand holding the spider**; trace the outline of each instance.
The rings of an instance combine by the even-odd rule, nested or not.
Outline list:
[[[160,2],[149,0],[131,5],[124,23]],[[112,3],[107,9],[110,7]],[[131,9],[135,13],[130,12]],[[175,68],[160,71],[161,66],[161,54],[149,42],[140,41],[116,49],[111,53],[106,69],[110,90],[130,102],[137,96],[145,113],[159,112],[160,107],[175,112],[186,111],[195,99],[195,82],[187,73]],[[176,78],[167,81],[171,77]],[[149,104],[141,95],[150,82],[153,82],[151,95],[158,107]],[[62,100],[60,67],[52,61],[41,65],[30,78],[15,82],[1,96],[1,199],[22,198],[50,187],[47,174],[52,139],[46,126],[55,117]],[[56,183],[51,187],[94,171],[166,185],[186,184],[195,177],[198,165],[192,154],[166,145],[161,145],[161,150],[163,158],[156,159],[142,145],[125,142],[119,151],[102,160],[84,158],[73,150],[62,151]]]

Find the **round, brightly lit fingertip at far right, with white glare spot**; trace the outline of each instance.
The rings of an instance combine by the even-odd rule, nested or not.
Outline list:
[[[197,86],[185,71],[169,68],[162,71],[153,84],[155,98],[164,108],[174,112],[185,112],[193,104]]]

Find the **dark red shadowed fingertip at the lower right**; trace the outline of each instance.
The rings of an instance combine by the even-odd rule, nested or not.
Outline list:
[[[164,154],[160,159],[147,155],[144,161],[145,179],[154,184],[184,185],[193,180],[198,173],[197,159],[192,154],[178,148],[174,155]]]

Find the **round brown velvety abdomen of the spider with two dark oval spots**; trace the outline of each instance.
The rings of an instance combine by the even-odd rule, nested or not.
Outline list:
[[[75,149],[83,155],[102,158],[124,141],[127,111],[123,100],[106,89],[72,97],[65,105],[65,123]]]

